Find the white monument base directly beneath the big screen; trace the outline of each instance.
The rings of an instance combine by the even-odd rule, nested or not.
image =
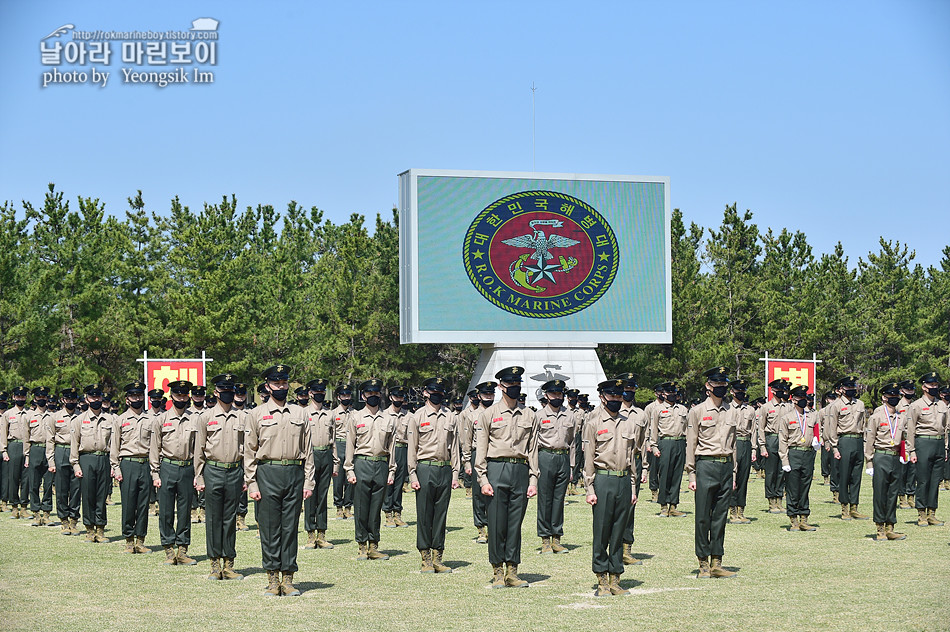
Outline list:
[[[527,395],[527,405],[535,408],[539,407],[541,385],[549,380],[564,380],[567,388],[587,393],[596,405],[597,385],[607,379],[596,344],[487,344],[482,345],[468,390],[481,382],[497,381],[495,373],[509,366],[524,367],[522,392]]]

